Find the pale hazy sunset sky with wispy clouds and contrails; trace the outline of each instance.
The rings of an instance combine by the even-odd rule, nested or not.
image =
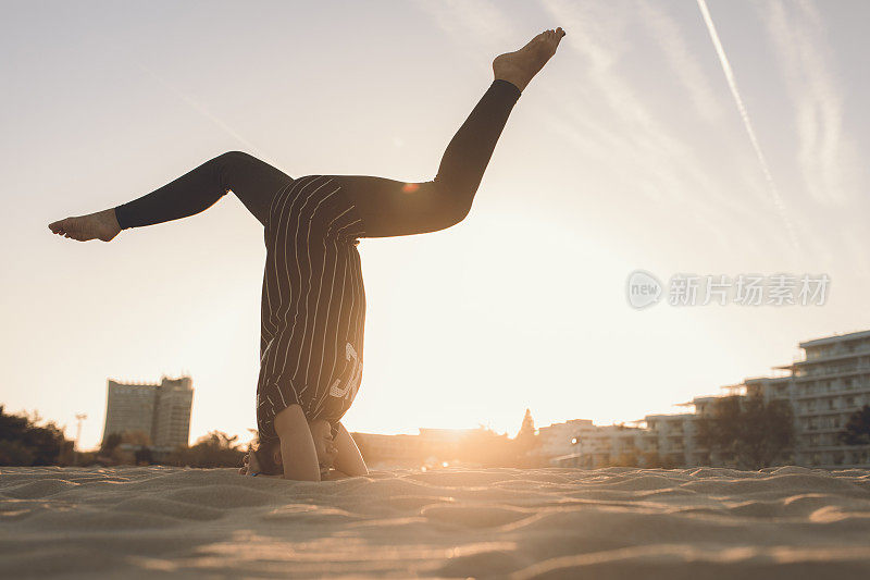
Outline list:
[[[110,244],[47,224],[244,150],[427,181],[492,59],[563,27],[470,215],[359,246],[350,431],[675,412],[870,329],[860,0],[0,3],[0,403],[99,444],[107,379],[189,373],[190,440],[249,439],[262,229],[232,195]],[[824,304],[632,308],[635,270],[826,274]],[[667,297],[666,297],[667,298]]]

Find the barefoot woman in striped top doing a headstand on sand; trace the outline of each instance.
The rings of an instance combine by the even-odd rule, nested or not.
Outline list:
[[[362,372],[359,238],[435,232],[462,221],[514,103],[563,36],[561,28],[546,30],[493,61],[493,84],[431,182],[294,180],[233,151],[139,199],[49,229],[72,239],[109,242],[122,230],[199,213],[232,190],[264,226],[268,248],[257,385],[260,445],[250,473],[308,481],[320,481],[331,467],[348,476],[368,473],[340,423]]]

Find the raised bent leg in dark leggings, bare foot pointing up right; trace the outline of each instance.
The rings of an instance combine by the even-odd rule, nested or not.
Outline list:
[[[364,237],[435,232],[465,218],[522,89],[552,57],[563,36],[561,28],[542,33],[522,49],[495,60],[495,81],[447,146],[433,181],[332,176],[362,218]]]

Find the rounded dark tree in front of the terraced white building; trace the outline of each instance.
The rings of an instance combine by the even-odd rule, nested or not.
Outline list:
[[[711,452],[732,454],[744,468],[769,467],[794,445],[791,405],[766,402],[760,395],[721,397],[696,424],[698,443]]]

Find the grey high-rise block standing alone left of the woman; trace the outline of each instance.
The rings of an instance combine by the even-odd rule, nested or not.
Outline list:
[[[189,377],[163,377],[160,383],[120,383],[110,379],[103,441],[112,433],[144,433],[158,449],[186,446],[192,402]]]

